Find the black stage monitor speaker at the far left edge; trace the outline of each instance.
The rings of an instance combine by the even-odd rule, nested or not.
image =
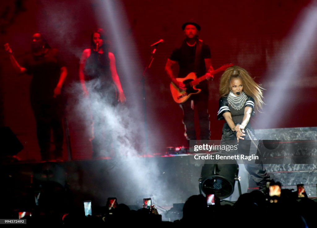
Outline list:
[[[0,127],[0,156],[13,156],[23,149],[10,127]]]

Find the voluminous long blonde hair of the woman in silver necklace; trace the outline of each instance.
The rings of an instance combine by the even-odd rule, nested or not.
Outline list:
[[[254,99],[255,110],[260,111],[264,105],[262,92],[264,89],[251,78],[250,74],[245,69],[240,66],[231,66],[221,75],[219,88],[220,97],[225,97],[229,94],[230,81],[232,78],[241,78],[243,92]]]

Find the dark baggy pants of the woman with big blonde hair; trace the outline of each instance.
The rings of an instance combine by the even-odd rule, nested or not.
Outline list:
[[[230,152],[228,151],[222,151],[224,154],[243,154],[243,155],[249,155],[250,154],[250,148],[252,147],[256,148],[256,153],[255,155],[261,156],[259,151],[259,148],[257,145],[253,145],[255,143],[256,139],[255,136],[253,135],[252,128],[245,129],[246,133],[244,136],[244,140],[240,139],[239,140],[239,145],[238,145],[238,150],[232,150]],[[249,134],[247,133],[249,132]],[[237,144],[237,139],[236,139],[236,134],[230,130],[229,126],[227,123],[224,124],[223,126],[223,134],[221,138],[221,145],[236,145]],[[266,182],[270,180],[269,174],[266,172],[266,170],[263,168],[263,163],[260,162],[254,162],[254,161],[245,161],[244,166],[246,170],[248,171],[249,175],[251,178],[256,182],[256,185],[259,187],[260,190],[265,189],[266,187]]]

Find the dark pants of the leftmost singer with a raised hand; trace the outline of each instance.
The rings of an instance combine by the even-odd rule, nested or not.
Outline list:
[[[61,159],[64,139],[61,98],[51,98],[45,101],[33,100],[31,105],[36,121],[36,135],[42,160],[50,159],[51,130],[55,145],[55,159]]]

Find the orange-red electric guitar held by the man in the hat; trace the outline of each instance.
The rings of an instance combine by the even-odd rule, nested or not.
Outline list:
[[[233,66],[233,64],[225,64],[219,67],[217,70],[210,72],[210,74],[214,75],[220,71],[225,71],[230,66]],[[170,89],[174,101],[178,104],[184,103],[188,98],[190,98],[191,94],[200,93],[201,89],[196,89],[195,86],[198,85],[200,82],[204,81],[205,79],[207,79],[206,74],[197,78],[194,72],[189,73],[185,78],[176,78],[177,81],[183,82],[185,84],[186,89],[179,89],[174,83],[171,82]]]

